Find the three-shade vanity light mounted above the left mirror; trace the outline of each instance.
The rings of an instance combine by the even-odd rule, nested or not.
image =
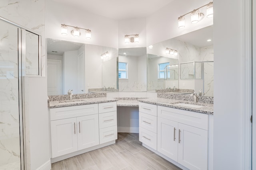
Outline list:
[[[91,30],[90,29],[85,29],[85,28],[80,28],[80,27],[74,27],[71,25],[66,25],[66,24],[61,24],[61,35],[68,35],[68,27],[73,27],[74,29],[71,30],[71,34],[74,37],[80,37],[80,29],[85,30],[85,38],[86,39],[91,39]]]

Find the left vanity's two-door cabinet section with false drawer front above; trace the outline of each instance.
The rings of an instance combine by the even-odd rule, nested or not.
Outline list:
[[[99,144],[98,104],[50,109],[52,158]]]

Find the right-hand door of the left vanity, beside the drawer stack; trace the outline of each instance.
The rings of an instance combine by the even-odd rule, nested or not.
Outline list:
[[[77,117],[78,150],[99,145],[98,114]]]

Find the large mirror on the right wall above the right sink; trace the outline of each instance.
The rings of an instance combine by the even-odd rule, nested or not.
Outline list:
[[[147,53],[148,91],[175,86],[213,96],[213,25],[156,43]]]

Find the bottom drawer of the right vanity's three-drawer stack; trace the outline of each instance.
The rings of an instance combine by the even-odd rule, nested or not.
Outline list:
[[[157,135],[156,133],[153,133],[151,131],[148,131],[147,129],[144,129],[143,127],[139,127],[140,135],[139,140],[144,143],[145,145],[148,145],[152,149],[157,149]]]

